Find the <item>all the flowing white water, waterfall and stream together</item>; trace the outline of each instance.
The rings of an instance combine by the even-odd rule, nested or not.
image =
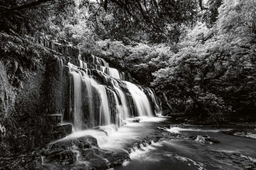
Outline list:
[[[132,83],[130,74],[109,67],[101,58],[91,56],[83,58],[87,61],[84,62],[79,53],[78,59],[79,66],[70,62],[66,65],[70,76],[70,110],[69,113],[61,113],[62,124],[72,124],[73,133],[58,141],[90,135],[97,139],[103,150],[128,153],[128,146],[131,160],[125,160],[115,169],[256,167],[255,129],[250,129],[246,136],[243,131],[234,135],[224,133],[232,127],[170,127],[172,118],[156,116],[161,114],[162,108],[153,89]],[[58,59],[58,65],[64,63]],[[63,68],[58,67],[61,74]],[[165,94],[164,98],[167,101]],[[170,137],[160,136],[157,142],[141,142],[162,132],[168,132]],[[209,135],[221,142],[202,143],[188,138],[192,135]],[[138,141],[140,144],[134,144]],[[81,153],[75,146],[72,152],[76,162],[82,162]],[[44,156],[41,159],[44,164]]]

